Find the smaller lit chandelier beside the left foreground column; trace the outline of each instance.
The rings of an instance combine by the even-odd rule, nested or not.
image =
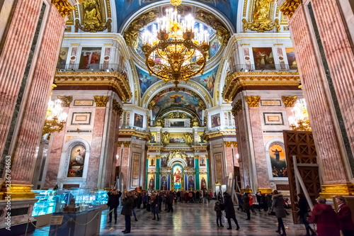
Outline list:
[[[49,101],[42,135],[45,135],[46,133],[60,132],[62,128],[64,128],[64,123],[66,123],[65,120],[67,120],[67,113],[62,112],[62,110],[62,101],[60,99]]]

